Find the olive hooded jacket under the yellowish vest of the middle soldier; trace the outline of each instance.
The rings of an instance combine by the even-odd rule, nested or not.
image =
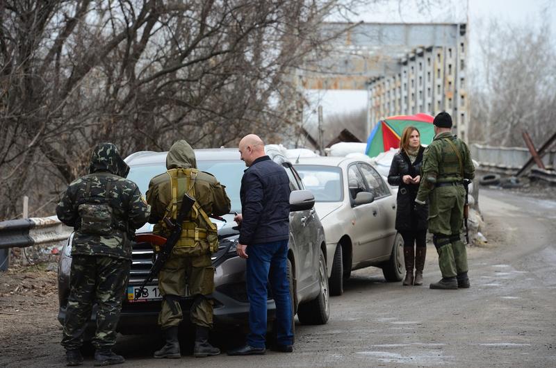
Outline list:
[[[166,168],[170,169],[189,169],[197,168],[195,152],[185,141],[175,142],[166,156]],[[185,188],[179,188],[177,210],[181,207],[181,197]],[[225,215],[230,211],[230,199],[226,194],[224,185],[221,185],[216,178],[206,172],[198,172],[195,179],[195,200],[207,215]],[[172,201],[170,192],[170,176],[166,173],[155,176],[149,183],[147,191],[147,203],[151,206],[151,216],[149,223],[155,224],[154,233],[167,237],[170,234],[163,223],[163,217],[168,215],[166,210]],[[182,233],[182,237],[185,235]]]

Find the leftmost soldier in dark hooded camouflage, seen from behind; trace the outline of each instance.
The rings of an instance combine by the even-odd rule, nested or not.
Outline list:
[[[67,365],[80,365],[83,332],[97,304],[95,365],[124,362],[112,352],[131,266],[131,239],[147,222],[150,208],[125,177],[129,167],[111,143],[92,153],[89,174],[67,187],[56,207],[58,219],[74,227],[70,297],[62,346]]]

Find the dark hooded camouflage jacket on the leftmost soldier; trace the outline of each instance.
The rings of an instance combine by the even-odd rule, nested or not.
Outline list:
[[[73,226],[72,254],[131,259],[131,238],[150,214],[129,166],[111,143],[92,153],[89,174],[72,182],[56,207],[58,219]],[[107,193],[108,192],[108,193]]]

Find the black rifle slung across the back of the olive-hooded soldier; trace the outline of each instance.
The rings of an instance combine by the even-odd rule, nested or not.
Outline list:
[[[189,196],[187,193],[183,194],[183,199],[181,200],[181,207],[179,208],[179,212],[175,221],[168,217],[164,217],[163,221],[165,222],[166,226],[170,228],[170,236],[167,237],[167,240],[164,246],[161,247],[161,252],[158,253],[156,256],[156,260],[154,261],[151,271],[149,272],[149,276],[145,278],[145,281],[141,284],[141,287],[135,294],[135,300],[139,299],[145,286],[147,283],[150,283],[154,276],[158,276],[158,272],[161,271],[162,267],[170,257],[170,253],[172,253],[172,249],[174,249],[174,245],[181,237],[181,224],[185,221],[188,213],[193,208],[193,204],[195,204],[195,198]]]

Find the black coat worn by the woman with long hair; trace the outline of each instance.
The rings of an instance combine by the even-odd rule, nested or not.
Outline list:
[[[398,231],[414,231],[427,228],[427,217],[429,214],[428,206],[420,206],[416,212],[415,199],[419,189],[418,184],[405,184],[402,181],[404,175],[414,178],[420,175],[421,165],[423,165],[424,147],[420,147],[417,159],[413,164],[409,160],[407,153],[397,153],[390,167],[388,182],[390,185],[398,185],[398,209],[395,216],[395,228]]]

